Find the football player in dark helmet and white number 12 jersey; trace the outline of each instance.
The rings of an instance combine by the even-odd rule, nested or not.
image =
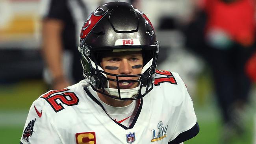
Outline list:
[[[197,135],[186,85],[156,69],[159,42],[143,12],[99,6],[78,50],[85,79],[33,102],[21,144],[180,144]]]

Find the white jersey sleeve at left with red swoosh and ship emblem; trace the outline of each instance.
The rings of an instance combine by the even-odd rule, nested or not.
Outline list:
[[[32,103],[20,144],[63,144],[42,98]]]

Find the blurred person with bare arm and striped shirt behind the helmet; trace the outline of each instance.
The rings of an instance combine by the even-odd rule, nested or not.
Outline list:
[[[63,89],[84,79],[77,50],[84,18],[111,0],[43,0],[42,50],[44,78],[52,89]],[[128,2],[129,0],[123,0]]]

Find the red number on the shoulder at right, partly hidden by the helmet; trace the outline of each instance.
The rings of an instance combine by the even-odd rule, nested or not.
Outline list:
[[[156,70],[156,74],[163,75],[163,77],[156,78],[154,85],[160,85],[160,83],[165,82],[177,85],[177,82],[171,72],[166,70]]]

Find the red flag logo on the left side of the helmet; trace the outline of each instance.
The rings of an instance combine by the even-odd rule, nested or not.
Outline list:
[[[89,17],[87,20],[84,22],[81,34],[80,34],[80,39],[85,39],[89,32],[94,28],[94,26],[100,21],[104,15],[108,13],[108,7],[106,6],[100,6],[98,7]]]

